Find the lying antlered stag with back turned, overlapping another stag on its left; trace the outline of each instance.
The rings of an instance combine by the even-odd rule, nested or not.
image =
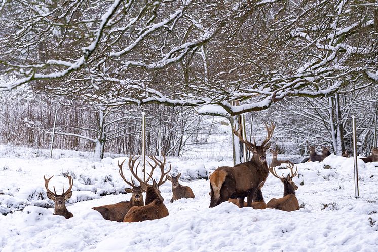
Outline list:
[[[146,182],[140,179],[137,175],[138,165],[136,166],[136,171],[133,170],[133,165],[130,167],[131,174],[139,181],[140,185],[143,185],[146,188],[146,202],[145,206],[133,206],[130,208],[128,213],[125,215],[123,222],[142,222],[145,220],[155,220],[166,217],[169,215],[167,207],[164,205],[164,199],[160,195],[159,186],[163,185],[168,177],[167,174],[171,171],[171,166],[167,172],[164,172],[165,166],[165,156],[163,156],[163,162],[157,160],[154,156],[149,156],[155,162],[155,165],[151,165],[148,161],[149,166],[151,167],[151,172],[149,178]],[[133,164],[135,161],[133,162]],[[153,184],[150,185],[147,182],[152,178],[155,168],[160,167],[160,179],[159,182],[156,182],[153,179]]]

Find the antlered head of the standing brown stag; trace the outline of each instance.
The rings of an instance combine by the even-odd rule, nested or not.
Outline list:
[[[275,127],[276,126],[273,123],[271,123],[271,127],[268,127],[268,125],[265,123],[265,128],[267,129],[268,135],[259,146],[256,145],[256,141],[254,138],[253,143],[244,140],[241,129],[239,129],[238,132],[234,130],[234,134],[238,136],[239,140],[245,144],[247,150],[253,153],[252,159],[254,159],[257,162],[264,163],[266,162],[266,151],[271,146],[271,143],[268,141],[272,138]]]

